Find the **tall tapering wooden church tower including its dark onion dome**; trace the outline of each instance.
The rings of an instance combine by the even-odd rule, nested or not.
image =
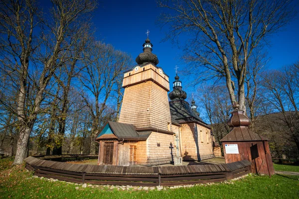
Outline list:
[[[119,122],[137,128],[171,131],[171,117],[167,92],[169,77],[156,65],[158,58],[152,51],[149,38],[143,44],[137,65],[124,74],[125,88]]]

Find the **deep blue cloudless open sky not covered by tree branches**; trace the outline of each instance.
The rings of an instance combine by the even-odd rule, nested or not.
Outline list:
[[[175,76],[175,65],[178,65],[178,70],[184,69],[184,65],[181,65],[179,60],[182,52],[169,41],[161,42],[164,37],[163,32],[167,31],[166,28],[160,29],[155,24],[161,11],[162,8],[156,6],[155,0],[99,1],[93,21],[99,39],[111,43],[116,49],[130,53],[134,59],[142,52],[142,44],[149,29],[149,39],[153,44],[152,52],[159,59],[158,66],[163,68],[172,82]],[[271,45],[268,47],[271,57],[269,68],[279,68],[299,60],[298,35],[297,16],[289,25],[271,37]]]

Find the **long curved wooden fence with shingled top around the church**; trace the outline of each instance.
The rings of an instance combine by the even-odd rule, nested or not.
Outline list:
[[[247,160],[230,164],[186,166],[108,166],[69,164],[66,160],[95,158],[93,155],[60,157],[34,156],[25,159],[26,169],[34,175],[73,183],[131,186],[179,186],[231,180],[250,171]],[[56,160],[56,161],[53,161]]]

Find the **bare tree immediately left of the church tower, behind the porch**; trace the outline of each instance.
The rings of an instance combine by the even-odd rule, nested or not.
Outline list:
[[[81,84],[92,94],[94,100],[88,100],[84,95],[87,106],[92,117],[90,153],[96,153],[95,136],[97,134],[101,117],[107,107],[107,100],[118,81],[119,75],[124,72],[130,61],[130,56],[121,51],[115,50],[111,45],[95,42],[90,51],[90,59],[81,75]]]

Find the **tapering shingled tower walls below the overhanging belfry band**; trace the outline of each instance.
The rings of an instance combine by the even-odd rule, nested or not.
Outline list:
[[[171,118],[167,92],[150,81],[125,88],[119,122],[168,130]]]

